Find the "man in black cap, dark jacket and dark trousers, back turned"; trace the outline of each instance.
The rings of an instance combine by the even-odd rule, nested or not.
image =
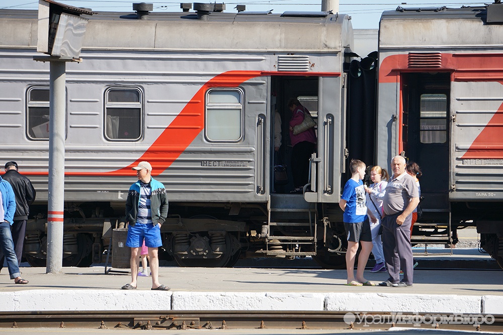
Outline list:
[[[26,220],[30,214],[30,205],[35,201],[37,192],[32,183],[18,172],[18,163],[9,161],[5,164],[5,174],[3,179],[11,184],[16,198],[16,212],[12,224],[12,239],[14,241],[14,251],[18,258],[18,266],[21,265],[23,257],[23,244],[25,241]],[[0,269],[4,265],[4,253],[0,249]]]

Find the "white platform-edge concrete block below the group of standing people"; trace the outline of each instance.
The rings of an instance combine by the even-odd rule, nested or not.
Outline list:
[[[397,288],[406,290],[406,288]],[[328,293],[325,309],[334,311],[480,313],[480,296],[403,293]]]

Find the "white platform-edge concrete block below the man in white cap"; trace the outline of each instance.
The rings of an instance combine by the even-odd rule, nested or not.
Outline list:
[[[13,311],[170,310],[173,294],[151,290],[73,290],[71,293],[68,290],[27,290],[2,293],[15,294]]]

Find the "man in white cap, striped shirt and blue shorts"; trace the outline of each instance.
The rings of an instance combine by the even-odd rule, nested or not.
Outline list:
[[[152,272],[152,290],[169,291],[170,288],[159,283],[158,247],[162,246],[160,226],[167,217],[166,189],[162,183],[153,179],[152,165],[141,161],[136,170],[138,181],[131,185],[126,200],[126,221],[129,222],[126,245],[131,247],[131,283],[123,290],[135,290],[140,263],[140,248],[145,240]]]

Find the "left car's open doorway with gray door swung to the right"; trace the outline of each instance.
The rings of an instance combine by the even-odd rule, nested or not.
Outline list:
[[[345,88],[342,87],[342,80],[340,74],[272,77],[272,96],[275,101],[272,108],[281,116],[283,135],[279,152],[272,156],[275,157],[275,165],[278,163],[288,165],[290,180],[292,180],[291,166],[289,166],[291,144],[288,136],[292,114],[286,106],[287,101],[290,98],[298,99],[310,111],[317,123],[316,150],[310,160],[310,185],[304,194],[307,202],[339,202],[340,173],[345,165],[345,155],[343,145],[341,145],[341,141],[345,141],[345,120],[341,110],[346,102],[346,93],[343,92]],[[274,113],[274,111],[271,112]],[[293,184],[290,182],[287,185],[274,186],[273,193],[289,193],[292,189]]]

